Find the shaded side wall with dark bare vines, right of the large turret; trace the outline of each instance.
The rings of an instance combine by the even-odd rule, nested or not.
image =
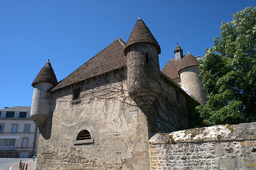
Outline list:
[[[188,95],[175,84],[168,77],[161,76],[162,93],[146,113],[151,132],[165,133],[188,128]]]

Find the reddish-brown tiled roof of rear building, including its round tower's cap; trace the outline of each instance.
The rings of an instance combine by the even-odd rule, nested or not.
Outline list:
[[[200,65],[200,62],[191,53],[188,53],[180,61],[170,59],[161,71],[171,79],[177,79],[180,78],[180,70],[198,65]]]

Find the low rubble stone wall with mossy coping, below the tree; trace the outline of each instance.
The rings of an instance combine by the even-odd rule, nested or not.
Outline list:
[[[256,123],[157,133],[149,140],[151,169],[256,169]]]

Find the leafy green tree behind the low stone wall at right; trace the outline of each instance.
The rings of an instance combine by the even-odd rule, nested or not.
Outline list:
[[[197,109],[204,126],[256,121],[256,7],[232,14],[214,47],[206,48],[199,78],[209,101]]]

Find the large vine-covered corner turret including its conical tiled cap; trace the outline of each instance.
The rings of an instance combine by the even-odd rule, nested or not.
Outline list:
[[[161,93],[158,42],[139,18],[124,48],[127,57],[128,92],[134,101],[149,109]]]

